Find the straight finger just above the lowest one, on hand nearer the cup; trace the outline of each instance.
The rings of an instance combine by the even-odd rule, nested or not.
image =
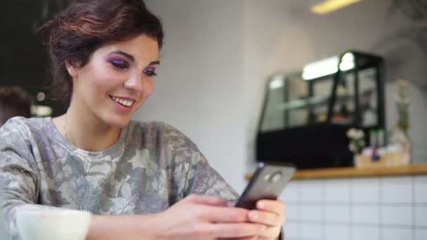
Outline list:
[[[249,210],[222,206],[204,206],[200,208],[201,217],[209,222],[247,222]]]

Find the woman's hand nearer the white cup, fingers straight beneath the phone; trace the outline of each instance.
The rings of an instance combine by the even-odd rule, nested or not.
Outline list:
[[[217,196],[190,195],[157,215],[156,239],[254,239],[268,227],[263,220],[248,222],[248,213],[247,209],[228,207]],[[264,216],[268,212],[260,213]]]

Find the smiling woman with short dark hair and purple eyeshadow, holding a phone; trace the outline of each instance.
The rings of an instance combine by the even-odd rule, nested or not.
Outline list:
[[[26,205],[93,213],[87,239],[276,239],[280,201],[229,207],[237,194],[196,145],[167,124],[131,121],[150,96],[162,25],[142,0],[79,0],[48,22],[54,119],[0,131],[3,208],[15,234]]]

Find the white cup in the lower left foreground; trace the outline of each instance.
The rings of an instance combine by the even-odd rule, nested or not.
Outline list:
[[[16,212],[22,240],[84,240],[91,213],[64,208],[22,207]]]

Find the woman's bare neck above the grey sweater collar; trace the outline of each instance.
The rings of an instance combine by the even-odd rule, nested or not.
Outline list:
[[[55,119],[54,119],[55,120]],[[100,152],[114,145],[121,129],[108,126],[93,114],[70,105],[55,124],[68,142],[90,152]]]

